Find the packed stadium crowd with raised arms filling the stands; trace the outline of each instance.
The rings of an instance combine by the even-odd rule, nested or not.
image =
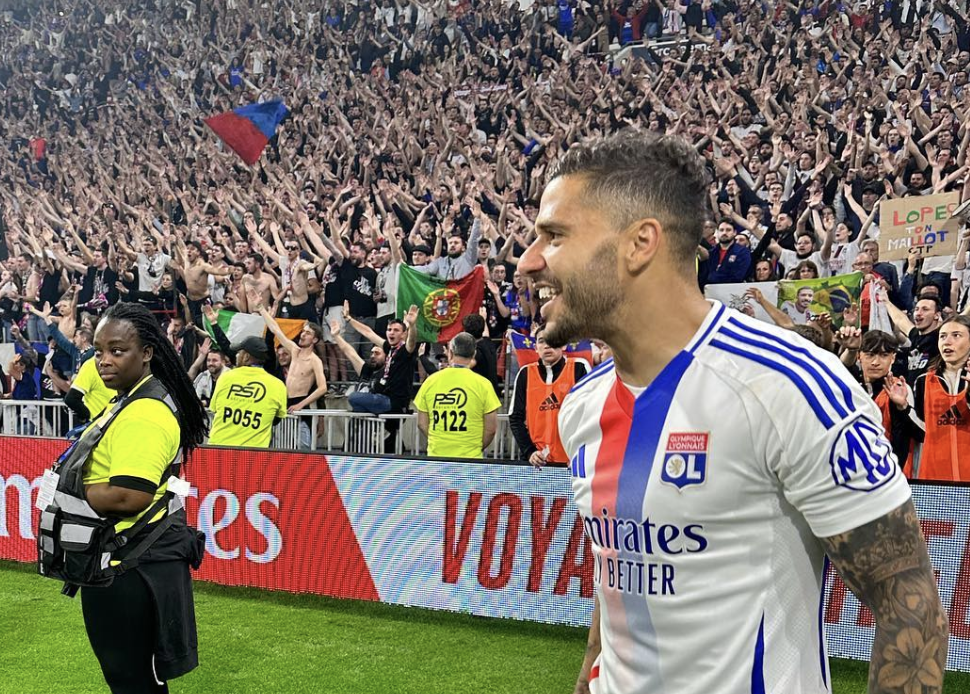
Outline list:
[[[231,366],[199,328],[210,304],[312,322],[297,344],[322,369],[290,378],[278,353],[291,411],[355,371],[380,393],[402,264],[485,265],[474,336],[529,333],[515,265],[545,176],[627,127],[710,162],[701,284],[862,271],[911,388],[968,304],[965,231],[946,257],[880,262],[877,242],[885,200],[970,198],[965,0],[62,0],[4,13],[0,48],[3,338],[52,346],[5,365],[6,398],[68,393],[119,301],[156,312],[205,397]],[[203,124],[270,99],[290,115],[253,167]],[[856,366],[873,297],[841,330],[750,298]]]

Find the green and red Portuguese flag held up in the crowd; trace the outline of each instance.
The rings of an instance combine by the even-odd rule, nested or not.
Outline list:
[[[400,266],[397,315],[418,307],[418,341],[447,342],[462,331],[461,321],[478,313],[485,292],[485,270],[477,265],[460,280],[439,280],[407,265]]]

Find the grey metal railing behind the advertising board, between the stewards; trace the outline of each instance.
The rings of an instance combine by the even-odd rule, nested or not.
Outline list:
[[[0,401],[0,434],[63,438],[75,425],[74,412],[60,400]],[[273,430],[271,448],[354,455],[426,455],[428,440],[418,428],[418,416],[375,416],[349,410],[302,410]],[[507,460],[516,455],[509,416],[498,416],[495,439],[486,458]]]

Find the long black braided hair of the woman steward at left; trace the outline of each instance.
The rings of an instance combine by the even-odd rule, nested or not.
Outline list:
[[[102,321],[107,320],[131,323],[142,345],[152,348],[152,375],[161,381],[175,401],[180,429],[179,445],[185,454],[190,453],[205,441],[209,433],[209,415],[196,395],[175,347],[162,332],[151,311],[140,304],[115,304],[102,318]]]

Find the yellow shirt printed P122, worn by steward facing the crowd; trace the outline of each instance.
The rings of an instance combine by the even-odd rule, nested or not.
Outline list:
[[[428,415],[428,455],[481,458],[485,415],[502,403],[487,378],[451,367],[421,384],[414,406]]]

